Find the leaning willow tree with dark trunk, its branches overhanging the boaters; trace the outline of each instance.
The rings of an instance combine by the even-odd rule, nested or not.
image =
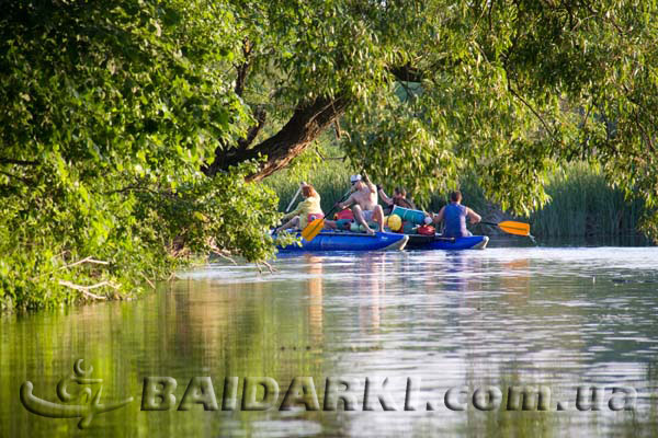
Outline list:
[[[356,168],[421,200],[475,172],[488,197],[526,215],[548,200],[551,171],[595,161],[645,200],[644,229],[658,235],[655,2],[232,5],[236,92],[258,123],[208,174],[266,155],[260,180],[334,124]]]

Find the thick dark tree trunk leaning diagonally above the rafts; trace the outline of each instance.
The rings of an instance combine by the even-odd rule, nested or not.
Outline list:
[[[204,169],[207,175],[228,170],[243,161],[266,157],[260,170],[247,181],[260,181],[285,168],[329,127],[349,105],[345,97],[317,97],[297,106],[291,119],[274,136],[252,148],[238,146],[235,149],[215,151],[215,161]]]

